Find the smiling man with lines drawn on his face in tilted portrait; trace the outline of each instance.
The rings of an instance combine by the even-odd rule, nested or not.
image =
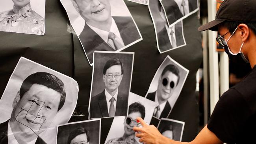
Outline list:
[[[4,144],[46,144],[47,130],[66,99],[64,83],[53,74],[36,72],[22,82],[13,100],[11,118],[0,124]]]

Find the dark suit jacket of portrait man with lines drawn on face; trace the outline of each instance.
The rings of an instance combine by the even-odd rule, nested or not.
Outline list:
[[[8,122],[9,120],[0,124],[0,144],[8,144]],[[35,144],[46,144],[46,142],[41,137],[38,136],[37,141],[35,141]]]

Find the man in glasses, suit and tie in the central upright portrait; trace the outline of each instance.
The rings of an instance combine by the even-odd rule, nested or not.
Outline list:
[[[90,118],[127,115],[128,95],[122,94],[118,87],[124,74],[123,63],[109,59],[103,69],[105,89],[91,98]]]

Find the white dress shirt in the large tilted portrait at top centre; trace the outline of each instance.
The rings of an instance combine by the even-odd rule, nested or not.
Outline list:
[[[86,23],[93,31],[95,31],[102,39],[104,42],[106,42],[107,44],[109,44],[108,42],[108,35],[109,32],[112,32],[115,34],[115,39],[117,39],[122,46],[124,47],[124,41],[122,40],[122,37],[120,35],[120,32],[117,28],[117,24],[115,23],[115,20],[112,18],[112,23],[111,23],[111,27],[109,31],[104,31],[104,30],[100,30],[98,28],[95,28],[94,26],[89,25],[88,23]],[[113,42],[112,42],[113,43]],[[115,50],[115,46],[112,44],[110,44],[111,48],[113,48]]]

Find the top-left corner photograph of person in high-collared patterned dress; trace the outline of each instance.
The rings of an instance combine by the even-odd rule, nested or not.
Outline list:
[[[0,31],[44,35],[45,0],[2,1]]]

